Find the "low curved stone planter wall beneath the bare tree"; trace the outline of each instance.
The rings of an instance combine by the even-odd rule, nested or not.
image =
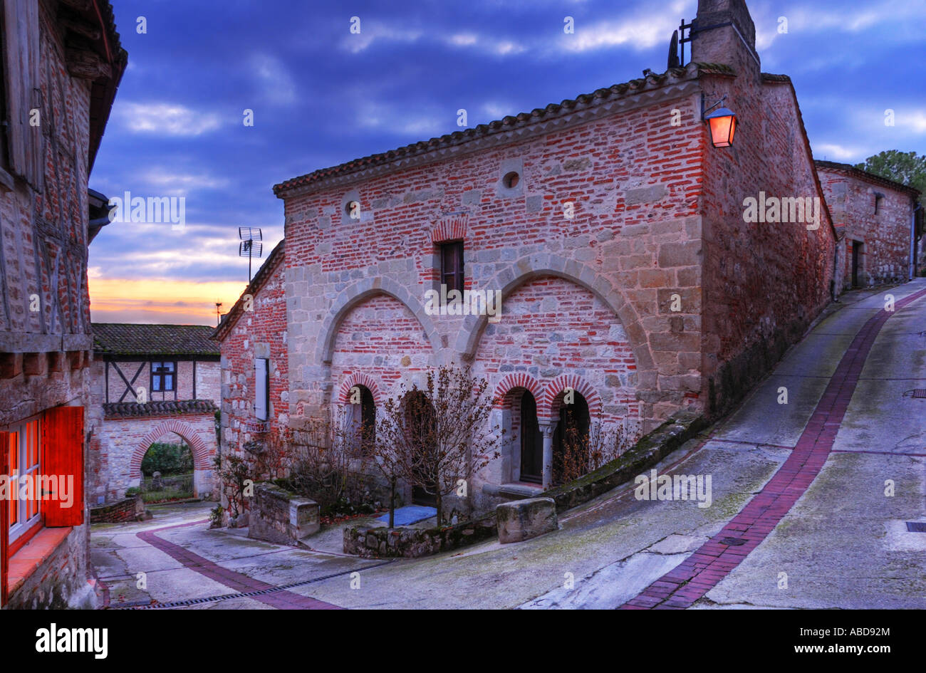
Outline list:
[[[494,538],[498,525],[494,513],[473,521],[432,529],[344,529],[344,554],[404,556],[414,558],[465,547]]]

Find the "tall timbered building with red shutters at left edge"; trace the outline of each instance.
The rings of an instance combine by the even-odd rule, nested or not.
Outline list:
[[[6,0],[0,32],[0,604],[86,605],[87,181],[127,56],[102,0]]]

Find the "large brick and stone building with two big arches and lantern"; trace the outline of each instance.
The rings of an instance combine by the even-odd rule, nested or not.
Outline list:
[[[685,66],[276,185],[291,425],[467,365],[511,430],[483,506],[550,483],[569,414],[729,409],[831,300],[836,237],[745,4],[702,0],[692,37]],[[721,101],[727,147],[703,116]],[[430,310],[442,285],[500,293],[500,316]]]

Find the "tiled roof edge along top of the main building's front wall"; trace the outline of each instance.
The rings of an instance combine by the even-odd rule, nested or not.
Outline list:
[[[655,89],[663,85],[669,78],[682,79],[684,76],[699,75],[734,75],[733,69],[722,63],[696,63],[692,62],[679,68],[670,68],[663,73],[648,73],[644,77],[635,78],[630,81],[612,84],[608,87],[595,89],[591,93],[582,93],[574,99],[565,99],[560,103],[550,103],[545,107],[535,107],[530,112],[519,112],[517,115],[508,115],[501,119],[495,119],[486,124],[478,124],[471,129],[463,131],[453,131],[445,133],[426,141],[409,143],[386,152],[379,152],[369,156],[363,156],[357,159],[351,159],[344,163],[337,164],[328,168],[319,168],[304,175],[282,181],[273,186],[273,193],[278,196],[287,192],[294,187],[310,184],[323,178],[336,175],[347,175],[357,172],[363,168],[387,164],[396,159],[417,156],[430,152],[432,150],[454,146],[463,143],[469,143],[477,138],[493,135],[502,131],[511,131],[515,128],[526,126],[529,123],[539,121],[544,118],[556,118],[559,115],[567,114],[576,106],[588,105],[596,99],[611,97],[621,97],[628,93],[640,93],[647,89]]]

